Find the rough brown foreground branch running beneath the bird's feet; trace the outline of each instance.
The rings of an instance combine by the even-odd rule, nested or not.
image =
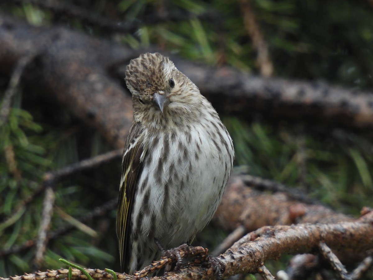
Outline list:
[[[282,254],[315,252],[320,242],[326,243],[329,248],[337,251],[367,252],[373,249],[373,212],[352,222],[280,225],[266,227],[262,232],[263,234],[255,240],[247,242],[243,239],[238,242],[241,245],[218,257],[226,267],[223,273],[224,278],[239,273],[255,274],[258,272],[258,267],[262,267],[265,261],[277,259]],[[94,279],[112,279],[110,274],[105,274],[102,270],[86,270]],[[167,273],[167,277],[169,279],[214,279],[212,270],[213,268],[203,265],[189,265],[179,271]],[[67,270],[47,271],[27,276],[0,278],[0,280],[62,278],[67,273]],[[80,279],[81,275],[79,271],[74,270],[72,279]],[[118,274],[118,278],[132,279],[125,274]],[[163,278],[157,276],[150,279]]]

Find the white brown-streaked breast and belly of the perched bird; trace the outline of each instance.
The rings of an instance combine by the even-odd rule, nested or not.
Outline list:
[[[195,126],[198,125],[202,126],[199,123]],[[157,199],[149,199],[149,206],[145,207],[144,201],[135,197],[132,218],[141,217],[141,221],[132,220],[137,231],[137,236],[132,238],[133,256],[136,255],[136,248],[149,252],[156,250],[157,253],[158,248],[152,243],[154,237],[160,240],[165,249],[188,242],[211,220],[219,206],[233,163],[231,137],[228,133],[219,136],[212,131],[212,125],[205,125],[202,128],[191,127],[191,131],[185,131],[184,137],[172,137],[172,133],[158,134],[160,137],[153,141],[154,146],[147,147],[150,154],[144,165],[150,168],[150,172],[142,172],[138,186],[145,186],[142,192],[149,192],[149,197]],[[153,136],[146,137],[151,139]],[[183,140],[179,141],[180,138]],[[214,141],[220,143],[220,150]],[[222,141],[228,146],[221,144]],[[167,153],[164,143],[169,146]],[[188,149],[184,150],[186,145]],[[160,172],[174,175],[168,177],[167,181],[160,181],[159,178],[165,178],[164,175],[160,176]],[[166,206],[164,199],[169,200]],[[141,212],[144,215],[139,215]],[[149,239],[153,246],[144,248],[145,244],[148,246]],[[153,259],[143,261],[150,263]]]

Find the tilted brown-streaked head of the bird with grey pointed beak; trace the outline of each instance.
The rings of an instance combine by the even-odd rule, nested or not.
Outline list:
[[[126,68],[126,84],[132,93],[134,118],[144,124],[181,125],[199,116],[200,91],[160,53],[132,59]]]

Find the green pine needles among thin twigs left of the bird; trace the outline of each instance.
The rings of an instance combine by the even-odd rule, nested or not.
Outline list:
[[[43,211],[44,192],[40,193],[39,189],[43,187],[44,173],[79,160],[77,130],[67,133],[69,130],[64,132],[35,122],[29,112],[20,108],[21,96],[19,93],[13,100],[8,121],[0,128],[0,250],[30,240],[35,242]],[[105,149],[97,137],[92,138],[96,139],[92,155],[103,152]],[[86,191],[80,186],[59,183],[53,190],[56,200],[51,231],[68,225],[56,211],[57,207],[68,215],[81,217],[90,211],[91,205],[97,206],[95,197],[87,198]],[[47,248],[40,268],[60,268],[58,259],[61,257],[84,266],[88,263],[97,267],[109,266],[113,256],[93,244],[99,243],[101,238],[96,233],[96,237],[87,239],[86,233],[70,230],[67,236],[49,242],[50,248]],[[0,275],[32,271],[34,254],[35,249],[31,246],[0,258]]]

